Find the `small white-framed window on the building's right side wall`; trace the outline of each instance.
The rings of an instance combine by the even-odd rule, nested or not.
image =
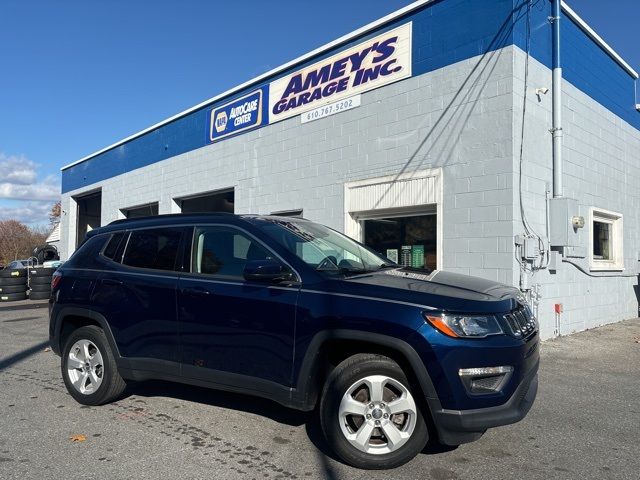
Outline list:
[[[623,270],[622,214],[591,208],[590,227],[591,270]]]

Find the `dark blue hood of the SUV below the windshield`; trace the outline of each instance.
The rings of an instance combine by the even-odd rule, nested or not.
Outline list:
[[[519,295],[515,287],[442,270],[396,268],[346,278],[344,282],[360,295],[459,313],[507,312],[517,306]]]

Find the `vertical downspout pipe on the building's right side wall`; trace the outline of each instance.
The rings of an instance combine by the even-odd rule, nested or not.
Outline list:
[[[562,63],[560,62],[560,16],[561,0],[552,0],[552,17],[549,19],[553,28],[553,198],[563,196],[562,185]]]

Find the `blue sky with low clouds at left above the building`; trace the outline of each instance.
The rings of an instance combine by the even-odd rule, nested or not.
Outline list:
[[[1,0],[0,220],[46,223],[62,166],[410,3]],[[640,70],[640,0],[568,3]]]

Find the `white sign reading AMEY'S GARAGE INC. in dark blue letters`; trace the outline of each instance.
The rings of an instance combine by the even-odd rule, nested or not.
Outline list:
[[[411,76],[411,22],[269,85],[269,123]]]

